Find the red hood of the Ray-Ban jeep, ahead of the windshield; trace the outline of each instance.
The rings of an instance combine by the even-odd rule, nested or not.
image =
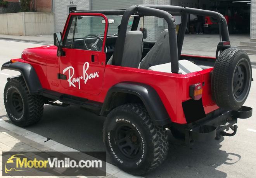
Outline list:
[[[33,47],[25,49],[21,54],[21,58],[33,63],[46,65],[47,56],[53,52],[57,54],[57,47],[54,45]]]

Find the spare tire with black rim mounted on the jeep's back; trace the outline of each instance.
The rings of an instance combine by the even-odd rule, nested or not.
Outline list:
[[[211,90],[216,104],[238,110],[248,97],[252,80],[251,61],[242,49],[225,49],[216,59]]]

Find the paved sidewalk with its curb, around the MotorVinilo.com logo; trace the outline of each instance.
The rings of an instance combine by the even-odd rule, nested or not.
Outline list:
[[[2,177],[2,152],[3,151],[58,151],[58,152],[68,152],[77,151],[73,148],[67,147],[63,144],[55,142],[53,140],[48,140],[46,137],[35,134],[31,131],[17,127],[14,124],[10,124],[5,120],[9,120],[7,117],[0,119],[0,177]],[[38,176],[35,173],[35,176],[22,175],[25,178],[53,178],[53,177],[62,177],[69,178],[69,176]],[[7,176],[6,178],[17,176]],[[71,177],[83,177],[86,176],[71,176]],[[138,176],[133,176],[124,171],[121,171],[118,167],[113,166],[112,164],[107,163],[107,174],[106,176],[94,176],[95,178],[140,178]]]

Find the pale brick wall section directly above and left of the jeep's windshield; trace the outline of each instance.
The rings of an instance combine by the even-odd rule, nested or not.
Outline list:
[[[54,20],[55,31],[62,32],[67,20],[68,7],[76,6],[77,10],[89,10],[90,0],[55,0],[54,1]]]

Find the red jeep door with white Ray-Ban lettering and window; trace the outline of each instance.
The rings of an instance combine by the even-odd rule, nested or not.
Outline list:
[[[106,63],[108,20],[103,14],[71,13],[64,28],[59,57],[61,85],[69,90],[97,95],[102,90]]]

